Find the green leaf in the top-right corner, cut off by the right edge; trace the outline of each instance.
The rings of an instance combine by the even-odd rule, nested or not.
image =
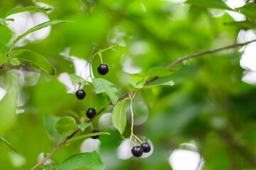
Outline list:
[[[247,3],[240,8],[235,8],[235,11],[244,14],[247,18],[251,18],[253,21],[256,19],[256,6],[251,3]]]

